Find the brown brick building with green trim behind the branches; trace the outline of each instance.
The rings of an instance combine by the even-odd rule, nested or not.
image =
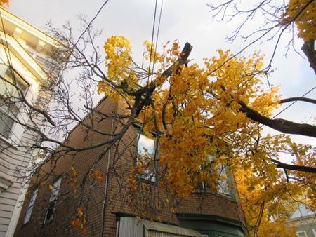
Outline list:
[[[150,153],[154,145],[136,125],[111,149],[103,143],[126,122],[127,111],[124,102],[105,97],[72,130],[34,175],[14,236],[248,236],[232,175],[218,193],[201,184],[195,194],[177,198],[159,186],[148,165],[137,187],[141,192],[131,194],[131,168],[141,148]],[[84,124],[92,123],[95,130],[87,130]],[[99,146],[84,149],[93,144]],[[81,149],[63,152],[67,146]],[[90,175],[82,184],[85,173]],[[135,218],[140,214],[143,219]]]

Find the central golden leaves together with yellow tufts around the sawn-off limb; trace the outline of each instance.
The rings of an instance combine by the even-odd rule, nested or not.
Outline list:
[[[153,52],[145,41],[145,59],[154,60],[157,74],[152,75],[154,107],[146,106],[140,111],[140,121],[145,121],[143,131],[159,130],[159,166],[168,166],[168,182],[171,193],[188,196],[201,181],[210,187],[217,182],[211,165],[227,164],[227,158],[219,156],[209,161],[209,154],[229,153],[228,140],[235,140],[239,130],[246,128],[249,118],[240,111],[239,101],[270,116],[277,106],[277,88],[265,90],[261,77],[263,57],[254,53],[249,58],[233,57],[229,50],[218,50],[218,57],[204,59],[204,68],[197,64],[174,67],[169,77],[162,77],[164,70],[180,57],[180,46],[174,41],[164,46],[164,53]],[[137,90],[140,78],[131,70],[131,46],[122,36],[112,36],[105,43],[107,53],[107,76],[110,81],[100,81],[99,93],[106,93],[114,100],[126,95],[124,90],[111,85],[126,83],[129,90]],[[228,62],[229,61],[229,62]],[[147,74],[149,70],[147,69]],[[140,88],[138,86],[138,88]],[[155,119],[150,119],[154,115]],[[239,136],[242,139],[242,135]],[[226,156],[225,156],[226,157]],[[158,169],[159,170],[159,169]],[[137,171],[137,167],[135,172]],[[133,186],[133,185],[131,185]],[[132,188],[131,188],[132,189]]]

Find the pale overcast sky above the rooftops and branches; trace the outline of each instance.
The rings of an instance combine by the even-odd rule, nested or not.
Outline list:
[[[40,28],[48,20],[51,20],[56,27],[61,27],[69,20],[74,25],[73,29],[77,29],[79,23],[76,15],[84,14],[90,20],[104,2],[101,0],[12,0],[9,10]],[[158,0],[158,10],[161,2]],[[190,55],[194,62],[201,62],[203,57],[213,57],[218,48],[230,49],[234,53],[243,48],[245,44],[241,40],[230,44],[225,39],[240,22],[235,20],[224,24],[224,22],[212,21],[210,9],[206,6],[210,2],[213,0],[164,0],[158,46],[175,39],[183,45],[189,42],[194,47]],[[110,0],[94,23],[95,27],[103,28],[100,46],[103,46],[107,37],[125,36],[131,40],[134,59],[140,62],[143,41],[150,41],[152,35],[154,5],[154,0]],[[247,26],[247,29],[261,23],[260,19],[256,19]],[[289,36],[284,36],[283,42],[288,42],[289,39]],[[270,82],[275,85],[282,84],[281,94],[284,98],[302,96],[316,86],[315,74],[310,69],[308,61],[294,50],[284,57],[286,53],[284,46],[285,44],[281,45],[277,50],[277,57],[272,65],[276,70]],[[270,43],[256,43],[245,55],[253,53],[254,50],[262,50],[269,55],[271,48]],[[301,41],[296,41],[296,49],[300,50],[300,48]],[[315,98],[316,91],[309,97]],[[298,102],[279,118],[293,118],[301,122],[305,118],[315,116],[315,109],[310,105],[304,109]]]

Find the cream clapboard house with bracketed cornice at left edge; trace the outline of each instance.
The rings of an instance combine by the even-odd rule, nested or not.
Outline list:
[[[34,142],[32,129],[25,125],[41,121],[41,116],[30,119],[27,107],[48,106],[49,91],[61,71],[58,65],[67,59],[67,53],[53,57],[57,50],[66,48],[0,8],[0,237],[13,236],[18,222],[28,185],[18,177],[27,177],[34,152],[23,147]]]

